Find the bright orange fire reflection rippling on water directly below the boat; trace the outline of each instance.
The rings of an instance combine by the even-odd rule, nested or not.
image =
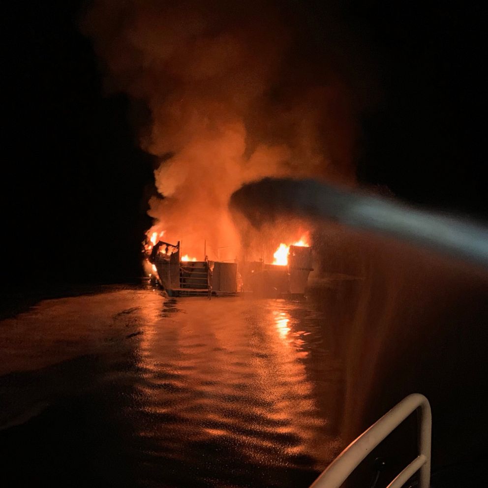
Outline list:
[[[295,307],[190,299],[167,302],[166,317],[147,321],[138,401],[125,415],[140,417],[137,436],[151,440],[157,453],[149,462],[191,458],[192,471],[225,477],[233,475],[221,464],[232,458],[247,476],[259,478],[256,468],[268,466],[309,471],[313,479],[331,460],[337,442],[307,378],[309,333],[296,332]],[[254,483],[262,481],[245,486]]]

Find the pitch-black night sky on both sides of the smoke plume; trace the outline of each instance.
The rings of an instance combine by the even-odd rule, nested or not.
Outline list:
[[[487,220],[484,7],[336,3],[378,60],[384,95],[363,115],[360,180]],[[127,98],[102,94],[81,4],[2,7],[4,287],[140,274],[152,158],[137,148]],[[304,5],[320,25],[321,2]]]

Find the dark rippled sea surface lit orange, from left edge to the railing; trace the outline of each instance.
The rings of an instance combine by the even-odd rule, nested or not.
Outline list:
[[[307,487],[336,455],[340,364],[310,302],[122,289],[0,323],[18,485]]]

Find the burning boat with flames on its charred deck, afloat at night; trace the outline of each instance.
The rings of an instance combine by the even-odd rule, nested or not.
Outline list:
[[[181,256],[180,242],[154,243],[148,257],[159,284],[169,296],[233,296],[254,293],[272,298],[305,296],[312,270],[312,248],[303,241],[280,244],[274,263],[204,261]]]

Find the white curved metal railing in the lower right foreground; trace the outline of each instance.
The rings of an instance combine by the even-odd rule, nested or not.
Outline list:
[[[419,455],[398,474],[387,488],[401,488],[419,470],[419,488],[428,488],[430,484],[432,415],[427,398],[419,393],[403,398],[388,413],[383,415],[378,422],[349,444],[315,480],[310,488],[339,488],[371,450],[417,409],[420,426],[418,439]]]

